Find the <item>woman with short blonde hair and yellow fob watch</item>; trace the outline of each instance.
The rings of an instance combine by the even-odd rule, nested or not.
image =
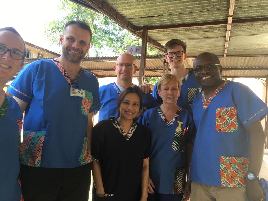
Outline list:
[[[149,201],[181,201],[190,196],[187,179],[195,138],[192,113],[177,105],[181,84],[177,76],[163,75],[157,85],[162,105],[138,119],[151,131]]]

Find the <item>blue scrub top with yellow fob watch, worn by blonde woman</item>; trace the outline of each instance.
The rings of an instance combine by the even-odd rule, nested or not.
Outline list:
[[[193,142],[196,133],[192,113],[179,108],[177,116],[167,122],[160,107],[156,107],[145,111],[137,122],[151,131],[150,177],[156,191],[163,194],[182,193],[183,188],[178,189],[177,184],[183,184],[186,178],[185,146]],[[188,132],[183,135],[184,128],[188,126]]]

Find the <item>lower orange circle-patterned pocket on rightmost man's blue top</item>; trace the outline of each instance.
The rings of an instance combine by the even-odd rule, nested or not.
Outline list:
[[[248,158],[221,156],[221,187],[246,187]]]

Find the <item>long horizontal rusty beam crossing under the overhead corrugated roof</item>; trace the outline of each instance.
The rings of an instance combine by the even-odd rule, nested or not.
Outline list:
[[[263,23],[263,22],[268,22],[268,17],[232,20],[232,24],[248,24],[248,23]],[[215,21],[215,22],[174,24],[174,25],[164,25],[164,26],[151,26],[151,27],[148,27],[148,31],[169,30],[169,29],[188,29],[188,28],[197,28],[197,27],[215,27],[215,26],[225,26],[225,25],[230,25],[230,24],[228,24],[228,21],[226,20]],[[142,28],[138,28],[137,31],[142,31]]]

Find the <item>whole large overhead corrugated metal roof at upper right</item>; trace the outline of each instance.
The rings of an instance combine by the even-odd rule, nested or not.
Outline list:
[[[113,17],[115,13],[109,11],[106,7],[101,8],[102,4],[96,3],[96,0],[83,1],[90,6],[95,5],[95,9],[105,13],[115,21],[118,18],[118,16]],[[230,9],[230,1],[227,0],[103,0],[102,3],[121,15],[127,23],[134,25],[137,30],[141,30],[143,26],[150,28],[152,26],[188,25],[189,23],[219,21],[222,22],[221,24],[226,24]],[[252,18],[258,18],[259,21],[268,21],[268,1],[236,0],[233,21],[241,19],[251,21]],[[124,27],[128,26],[127,23],[123,24]],[[182,29],[173,27],[173,29],[162,29],[161,31],[156,28],[154,30],[149,29],[148,36],[162,46],[173,38],[185,41],[188,46],[189,57],[195,57],[203,51],[223,56],[225,50],[227,50],[227,57],[268,54],[268,23],[251,21],[251,23],[232,24],[229,46],[226,44],[225,47],[226,27],[226,25]],[[137,34],[139,32],[133,33]],[[162,50],[160,45],[158,50]]]

